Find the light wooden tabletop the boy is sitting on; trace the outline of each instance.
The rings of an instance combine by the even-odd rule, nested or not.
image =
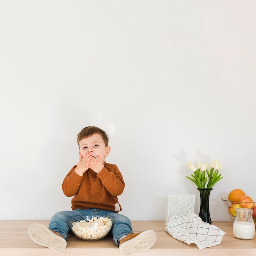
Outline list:
[[[0,220],[0,256],[50,256],[50,255],[83,255],[120,256],[117,245],[112,237],[107,236],[98,241],[84,241],[69,235],[67,247],[63,252],[55,252],[51,249],[34,243],[28,235],[28,227],[38,222],[45,226],[49,220]],[[157,241],[153,247],[146,252],[134,254],[136,256],[197,256],[197,255],[256,255],[256,236],[252,240],[239,240],[234,238],[231,221],[213,221],[220,229],[226,232],[220,245],[210,248],[198,249],[195,244],[187,245],[175,240],[165,231],[164,221],[132,221],[134,232],[153,229],[157,233]]]

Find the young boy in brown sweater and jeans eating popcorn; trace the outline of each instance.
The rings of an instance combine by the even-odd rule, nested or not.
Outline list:
[[[132,233],[130,220],[118,213],[118,195],[124,191],[124,180],[115,164],[105,162],[110,153],[108,135],[95,126],[85,127],[77,135],[79,161],[66,175],[62,189],[71,200],[72,211],[60,211],[52,216],[49,229],[34,223],[29,236],[34,242],[61,252],[67,234],[71,234],[68,219],[74,216],[108,216],[113,219],[110,234],[121,255],[130,255],[152,247],[156,241],[153,230]]]

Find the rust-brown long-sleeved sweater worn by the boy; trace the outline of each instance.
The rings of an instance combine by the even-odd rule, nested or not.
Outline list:
[[[74,196],[71,208],[90,209],[97,208],[108,211],[121,211],[117,196],[124,191],[124,179],[115,164],[104,162],[100,173],[95,173],[90,168],[78,175],[74,169],[65,177],[62,190],[66,196]]]

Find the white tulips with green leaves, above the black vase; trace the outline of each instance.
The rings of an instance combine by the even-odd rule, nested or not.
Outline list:
[[[212,189],[213,185],[223,178],[221,177],[221,173],[219,173],[222,168],[222,163],[216,160],[213,160],[210,171],[207,170],[209,164],[200,161],[198,161],[196,166],[191,162],[188,162],[188,166],[193,171],[193,174],[191,174],[192,178],[188,176],[186,177],[189,180],[192,180],[198,186],[198,189]]]

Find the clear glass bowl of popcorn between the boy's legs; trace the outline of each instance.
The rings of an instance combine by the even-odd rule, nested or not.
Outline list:
[[[82,240],[99,240],[108,235],[113,220],[107,216],[77,216],[68,220],[73,234]]]

